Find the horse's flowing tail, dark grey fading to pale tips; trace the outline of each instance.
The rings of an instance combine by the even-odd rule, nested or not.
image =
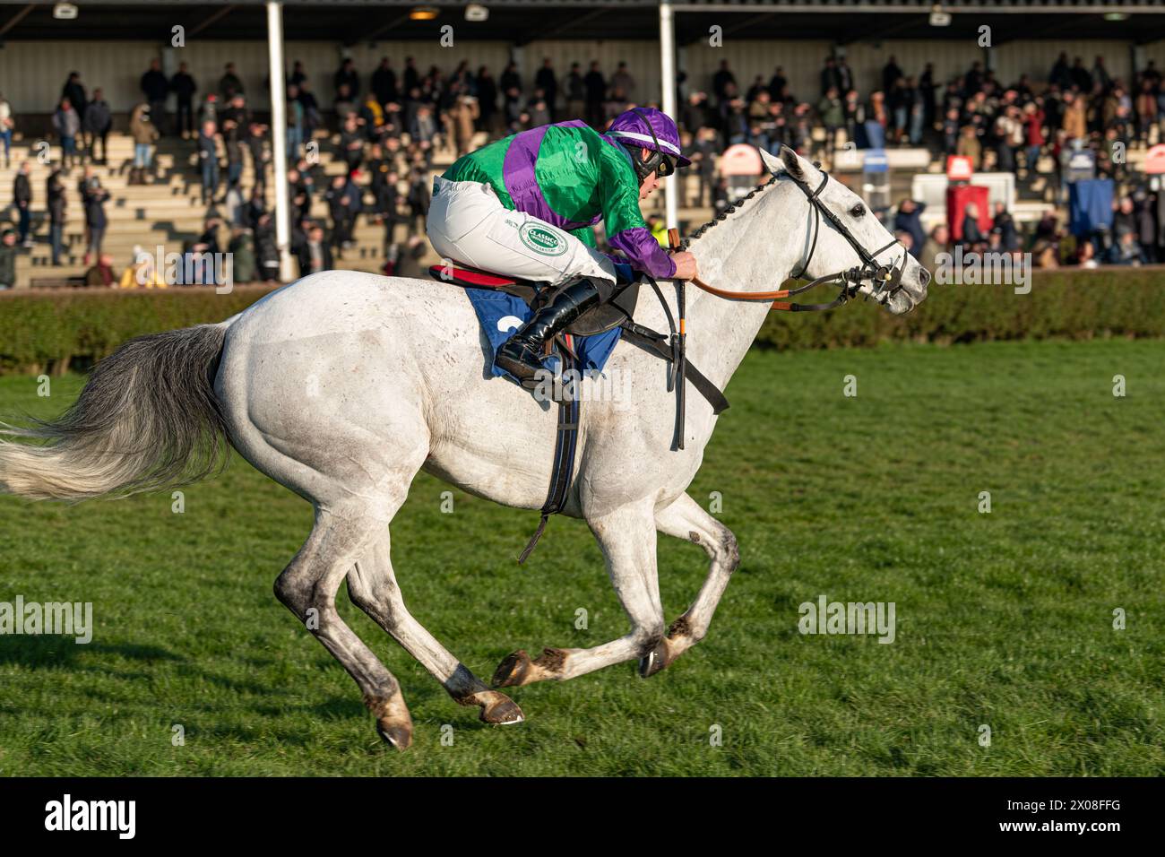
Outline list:
[[[230,322],[130,339],[57,420],[0,423],[0,493],[85,500],[193,482],[227,461],[214,375]]]

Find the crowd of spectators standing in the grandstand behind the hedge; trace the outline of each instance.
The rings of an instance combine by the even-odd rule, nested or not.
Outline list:
[[[1152,62],[1125,82],[1109,73],[1103,57],[1086,68],[1080,57],[1069,63],[1061,54],[1046,79],[1021,76],[1004,85],[980,62],[942,82],[933,64],[913,75],[891,56],[877,79],[862,82],[869,84],[863,93],[845,57],[831,55],[822,62],[818,83],[817,91],[795,94],[777,65],[767,80],[756,76],[742,84],[728,61],[720,63],[707,87],[692,85],[680,75],[676,119],[693,162],[690,177],[680,182],[680,204],[727,203],[727,183],[719,175],[718,161],[735,143],[769,152],[790,146],[824,160],[848,141],[859,147],[926,147],[935,156],[963,155],[975,170],[1014,173],[1017,183],[1043,177],[1061,203],[1068,160],[1087,149],[1096,174],[1111,177],[1120,188],[1111,230],[1086,238],[1069,236],[1053,209],[1025,234],[1010,212],[996,206],[988,230],[977,210],[959,212],[960,244],[980,252],[1030,251],[1046,266],[1165,260],[1160,195],[1134,187],[1138,177],[1130,174],[1124,157],[1130,146],[1165,139],[1165,87]],[[267,84],[262,82],[263,87]],[[141,77],[142,100],[129,117],[134,142],[129,182],[151,181],[160,136],[186,141],[207,210],[202,233],[183,252],[196,259],[233,253],[236,282],[278,278],[274,217],[267,205],[273,133],[282,134],[287,145],[292,252],[301,274],[327,269],[343,258],[354,246],[355,224],[363,217],[384,230],[382,271],[416,275],[426,247],[429,176],[437,149],[447,146],[460,155],[480,143],[482,135],[492,140],[563,119],[581,118],[602,128],[629,106],[655,103],[641,92],[626,63],[603,70],[598,62],[585,66],[574,62],[564,70],[549,57],[527,79],[513,62],[495,77],[489,68],[474,70],[464,61],[443,71],[437,66],[423,70],[412,57],[397,68],[384,57],[365,73],[345,59],[319,98],[297,61],[285,87],[287,127],[273,129],[253,112],[247,85],[233,63],[225,65],[214,85],[205,86],[185,63],[168,77],[155,59]],[[168,112],[171,96],[172,113]],[[0,94],[6,162],[15,119]],[[52,264],[58,265],[62,257],[65,182],[72,169],[82,167],[77,187],[85,219],[85,264],[93,262],[86,280],[110,285],[113,274],[100,269],[107,226],[104,206],[110,195],[92,166],[107,162],[112,111],[99,87],[89,93],[80,75],[71,72],[51,126],[61,153],[44,188]],[[333,157],[344,164],[343,174],[323,174],[320,146],[332,148]],[[243,187],[248,163],[250,182]],[[29,164],[23,163],[13,187],[14,229],[0,241],[0,286],[8,257],[33,240],[34,189],[28,176]],[[318,201],[324,202],[326,218],[312,213]],[[892,217],[899,237],[925,261],[927,254],[933,258],[953,243],[945,225],[924,232],[919,220],[924,208],[903,201],[892,215],[883,213]],[[395,240],[400,225],[404,226],[403,241]],[[132,267],[141,265],[134,260]]]

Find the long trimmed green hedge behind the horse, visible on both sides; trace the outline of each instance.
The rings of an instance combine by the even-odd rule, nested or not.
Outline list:
[[[82,368],[134,336],[219,322],[269,291],[0,293],[0,374]],[[932,283],[927,300],[902,317],[860,300],[829,312],[772,312],[757,343],[795,349],[1103,336],[1165,337],[1165,268],[1036,272],[1026,295],[1011,286]]]

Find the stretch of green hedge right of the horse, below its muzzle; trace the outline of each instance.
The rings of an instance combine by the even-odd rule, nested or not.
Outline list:
[[[825,286],[819,294],[799,300],[833,297]],[[1165,268],[1042,271],[1026,295],[1011,286],[932,282],[926,300],[905,316],[861,298],[828,312],[770,312],[757,342],[797,349],[1103,336],[1165,336]]]

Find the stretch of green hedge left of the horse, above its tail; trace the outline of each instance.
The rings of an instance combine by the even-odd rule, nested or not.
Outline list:
[[[0,374],[84,368],[126,339],[230,318],[263,287],[0,291]]]

